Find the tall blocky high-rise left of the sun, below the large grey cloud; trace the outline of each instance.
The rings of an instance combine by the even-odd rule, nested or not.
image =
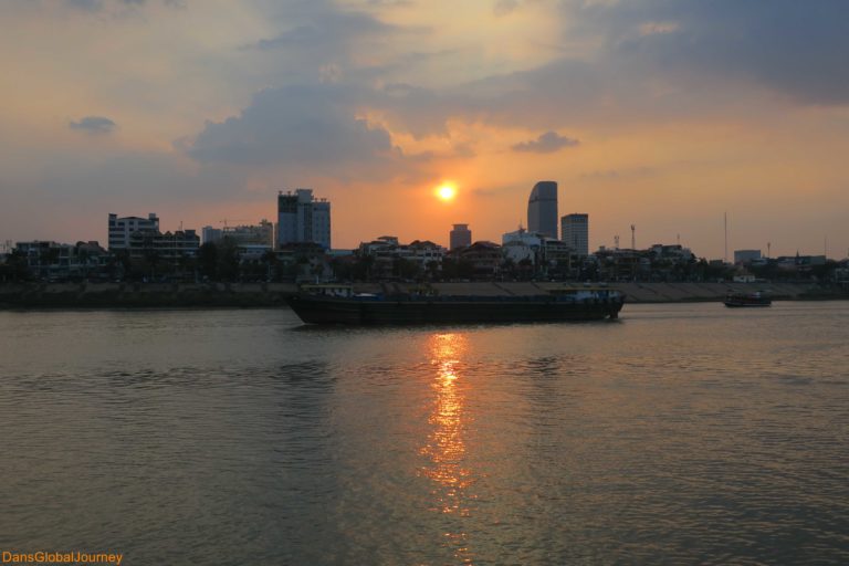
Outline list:
[[[315,242],[331,249],[331,203],[314,199],[312,189],[280,191],[277,196],[277,245]]]

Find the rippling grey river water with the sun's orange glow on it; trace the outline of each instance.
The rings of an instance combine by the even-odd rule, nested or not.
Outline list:
[[[0,549],[849,563],[849,303],[315,329],[0,313]]]

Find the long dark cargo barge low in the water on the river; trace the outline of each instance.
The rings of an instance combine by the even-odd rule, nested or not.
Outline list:
[[[313,285],[289,305],[307,324],[403,325],[617,318],[623,296],[606,287],[559,289],[537,295],[459,296],[429,293],[356,294]]]

